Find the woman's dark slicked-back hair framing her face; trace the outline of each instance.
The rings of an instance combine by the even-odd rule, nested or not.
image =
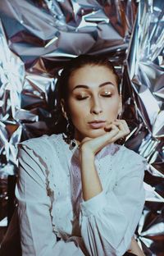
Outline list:
[[[75,71],[77,71],[80,67],[84,66],[105,66],[107,67],[112,73],[116,76],[116,84],[118,92],[120,93],[120,77],[116,73],[112,62],[108,60],[107,57],[100,57],[100,56],[92,56],[92,55],[80,55],[78,57],[72,58],[69,62],[66,63],[64,66],[62,73],[57,81],[57,113],[58,113],[58,120],[56,123],[56,133],[65,133],[66,134],[66,119],[62,115],[62,108],[61,108],[61,100],[62,98],[66,101],[68,97],[68,82]],[[70,126],[70,137],[73,139],[74,137],[74,126],[69,120]]]

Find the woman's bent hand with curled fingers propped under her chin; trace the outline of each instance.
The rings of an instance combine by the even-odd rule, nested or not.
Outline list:
[[[120,119],[112,121],[112,123],[108,124],[104,130],[106,133],[104,135],[98,136],[97,138],[91,139],[89,137],[85,137],[81,141],[80,152],[92,153],[95,155],[107,144],[115,142],[117,139],[121,139],[130,133],[130,129],[127,126],[126,121]]]

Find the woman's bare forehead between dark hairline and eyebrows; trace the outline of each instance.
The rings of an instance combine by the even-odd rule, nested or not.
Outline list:
[[[104,82],[111,82],[116,85],[116,75],[109,67],[85,65],[72,72],[69,79],[69,87],[73,89],[75,85],[98,86]]]

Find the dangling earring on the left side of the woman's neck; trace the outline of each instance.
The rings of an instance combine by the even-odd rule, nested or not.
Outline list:
[[[66,132],[62,133],[62,138],[66,141],[67,144],[70,144],[70,149],[74,149],[76,141],[73,138],[73,127],[71,127],[71,121],[66,117]]]

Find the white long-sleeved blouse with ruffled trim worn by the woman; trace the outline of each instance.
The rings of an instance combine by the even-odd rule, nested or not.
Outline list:
[[[130,248],[144,207],[147,162],[125,146],[108,144],[95,156],[103,191],[84,201],[78,154],[62,135],[19,144],[22,256],[121,256]]]

